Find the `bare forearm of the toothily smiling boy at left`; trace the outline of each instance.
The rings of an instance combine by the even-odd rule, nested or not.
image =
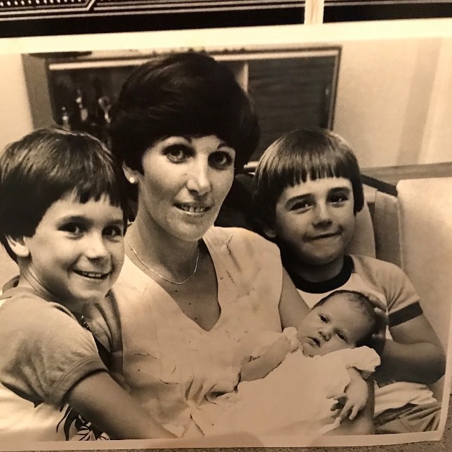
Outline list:
[[[173,438],[107,372],[91,373],[69,390],[67,403],[112,439]]]

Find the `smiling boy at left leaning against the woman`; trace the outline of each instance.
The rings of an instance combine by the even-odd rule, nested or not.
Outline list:
[[[2,441],[172,436],[109,375],[82,316],[124,262],[123,178],[85,133],[34,131],[0,157],[0,240],[19,267],[0,298]]]

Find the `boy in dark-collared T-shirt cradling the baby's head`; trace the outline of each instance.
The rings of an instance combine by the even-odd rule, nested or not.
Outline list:
[[[376,432],[436,430],[441,404],[426,385],[444,375],[444,350],[413,285],[396,265],[345,253],[364,206],[357,159],[345,140],[320,128],[276,140],[256,169],[254,201],[263,234],[279,245],[307,305],[341,289],[374,295],[382,319],[387,311],[387,337],[383,331],[374,335],[381,357]]]

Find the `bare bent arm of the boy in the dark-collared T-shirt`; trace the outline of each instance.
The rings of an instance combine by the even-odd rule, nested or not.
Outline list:
[[[390,332],[394,341],[385,341],[378,378],[428,385],[444,375],[444,350],[424,314],[390,326]]]

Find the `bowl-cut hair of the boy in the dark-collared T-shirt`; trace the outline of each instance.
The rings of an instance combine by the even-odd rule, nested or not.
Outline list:
[[[254,178],[254,210],[265,225],[274,225],[275,208],[287,187],[308,178],[345,178],[352,183],[357,213],[364,192],[357,158],[347,142],[324,128],[300,128],[278,138],[259,160]]]

